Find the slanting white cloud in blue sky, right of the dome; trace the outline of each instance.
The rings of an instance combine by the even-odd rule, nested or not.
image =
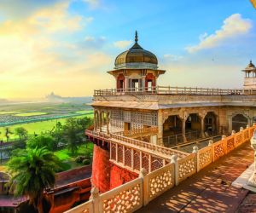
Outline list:
[[[201,49],[212,49],[227,43],[230,38],[241,37],[246,35],[253,27],[249,19],[243,19],[241,14],[232,14],[224,20],[224,24],[215,33],[207,35],[204,33],[200,36],[200,43],[195,46],[189,46],[186,49],[189,53],[195,53]]]

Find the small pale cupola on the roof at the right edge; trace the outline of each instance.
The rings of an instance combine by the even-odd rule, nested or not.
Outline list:
[[[256,67],[253,65],[252,60],[242,72],[245,72],[243,88],[256,89]]]

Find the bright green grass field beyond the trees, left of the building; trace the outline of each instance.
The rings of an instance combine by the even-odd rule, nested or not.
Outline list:
[[[93,111],[88,111],[88,114],[86,115],[78,115],[73,118],[84,118],[84,117],[89,117],[93,118]],[[16,124],[9,126],[9,129],[11,132],[14,132],[15,128],[17,127],[24,127],[29,135],[32,135],[34,133],[40,134],[41,132],[45,132],[48,130],[52,130],[52,128],[55,126],[57,122],[61,122],[61,124],[65,124],[65,121],[67,118],[59,118],[59,119],[52,119],[52,120],[47,120],[47,121],[39,121],[39,122],[34,122],[34,123],[27,123],[27,124]],[[6,138],[4,137],[4,132],[5,132],[6,127],[0,127],[0,132],[2,133],[0,135],[0,140],[3,138],[3,141],[6,141]],[[10,140],[14,140],[18,138],[17,135],[10,135]]]

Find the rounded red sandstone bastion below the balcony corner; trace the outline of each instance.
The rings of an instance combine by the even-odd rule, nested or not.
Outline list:
[[[107,192],[110,185],[109,152],[94,145],[92,162],[92,184],[99,188],[101,193]]]

